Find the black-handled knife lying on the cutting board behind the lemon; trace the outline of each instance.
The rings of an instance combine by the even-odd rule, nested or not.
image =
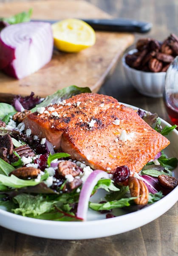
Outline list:
[[[112,31],[112,32],[137,32],[137,33],[147,33],[152,28],[152,23],[129,20],[129,19],[82,19],[88,23],[94,30],[100,31]],[[31,21],[41,21],[48,23],[56,23],[59,20],[31,20]]]

